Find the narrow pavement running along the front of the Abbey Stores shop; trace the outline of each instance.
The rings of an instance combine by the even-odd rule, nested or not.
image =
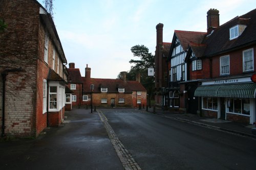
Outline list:
[[[145,109],[141,109],[145,110]],[[156,108],[154,112],[154,108],[148,108],[149,113],[158,114],[170,119],[175,119],[180,122],[186,122],[189,124],[194,124],[197,126],[202,126],[205,128],[215,129],[219,131],[224,131],[228,133],[233,133],[237,135],[242,135],[246,137],[250,137],[256,139],[256,126],[255,125],[248,125],[236,122],[230,122],[222,119],[217,118],[207,118],[207,117],[200,117],[196,114],[184,114],[184,113],[174,113],[168,110],[161,110],[160,108]],[[253,128],[253,132],[252,132]],[[254,133],[254,134],[253,134]]]

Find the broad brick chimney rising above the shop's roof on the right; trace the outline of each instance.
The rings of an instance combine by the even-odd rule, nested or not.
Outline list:
[[[209,9],[207,12],[207,34],[220,26],[220,14],[217,9]]]

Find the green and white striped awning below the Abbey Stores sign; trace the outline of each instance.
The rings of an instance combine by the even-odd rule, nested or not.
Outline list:
[[[199,86],[195,96],[219,98],[255,98],[256,83]]]

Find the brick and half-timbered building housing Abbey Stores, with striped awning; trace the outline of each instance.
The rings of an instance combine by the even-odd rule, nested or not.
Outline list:
[[[207,32],[175,31],[168,54],[169,109],[255,123],[256,10],[220,26],[207,12]]]

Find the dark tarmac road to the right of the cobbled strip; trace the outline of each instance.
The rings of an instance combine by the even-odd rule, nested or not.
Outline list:
[[[101,109],[142,169],[255,169],[253,139],[135,109]]]

